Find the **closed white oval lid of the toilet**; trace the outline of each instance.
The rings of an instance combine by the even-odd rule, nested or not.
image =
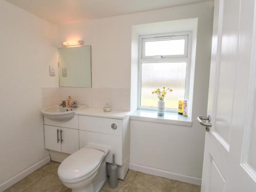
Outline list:
[[[75,180],[90,174],[105,154],[94,148],[81,148],[67,157],[58,168],[58,175],[65,180]]]

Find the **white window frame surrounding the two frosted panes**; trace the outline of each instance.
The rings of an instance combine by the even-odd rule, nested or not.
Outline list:
[[[146,40],[162,40],[162,39],[181,39],[185,37],[185,50],[183,55],[157,55],[145,56],[145,42]],[[182,39],[183,39],[182,38]],[[139,58],[138,58],[138,110],[152,110],[157,111],[157,107],[141,106],[141,72],[142,63],[161,63],[161,62],[186,62],[186,79],[185,79],[185,95],[184,98],[188,99],[189,96],[189,80],[190,80],[190,65],[191,65],[191,45],[192,45],[192,32],[172,32],[172,33],[159,33],[151,35],[139,36]],[[177,103],[178,106],[178,103]],[[165,108],[166,112],[177,112],[178,109]]]

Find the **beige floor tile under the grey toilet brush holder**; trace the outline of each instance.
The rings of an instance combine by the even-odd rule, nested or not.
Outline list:
[[[134,170],[129,170],[124,180],[118,180],[118,186],[116,188],[110,188],[109,180],[106,181],[105,185],[103,186],[103,190],[107,190],[110,192],[128,192],[133,184],[137,172]]]

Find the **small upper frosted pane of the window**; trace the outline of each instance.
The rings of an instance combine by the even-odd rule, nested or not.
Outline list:
[[[185,39],[145,41],[145,56],[184,55]]]

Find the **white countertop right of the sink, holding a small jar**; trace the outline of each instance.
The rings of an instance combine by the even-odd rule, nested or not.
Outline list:
[[[111,112],[103,112],[103,109],[85,108],[77,111],[75,114],[94,116],[94,117],[105,117],[105,118],[112,118],[112,119],[124,119],[125,117],[130,115],[130,111],[113,110]]]

